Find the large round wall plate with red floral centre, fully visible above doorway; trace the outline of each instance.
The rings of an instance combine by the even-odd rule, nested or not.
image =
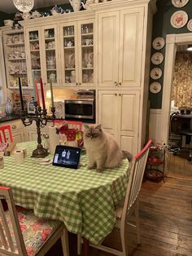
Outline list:
[[[171,16],[170,23],[175,29],[181,29],[185,26],[188,20],[188,15],[185,11],[176,11]]]

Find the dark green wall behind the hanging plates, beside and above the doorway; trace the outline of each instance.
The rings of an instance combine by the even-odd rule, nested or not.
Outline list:
[[[171,0],[159,0],[157,1],[157,12],[154,15],[153,19],[153,34],[152,34],[152,41],[157,37],[163,37],[164,40],[166,40],[166,35],[169,33],[191,33],[187,29],[187,24],[181,29],[174,29],[172,28],[172,25],[170,24],[170,19],[172,14],[175,11],[186,11],[188,14],[189,20],[192,19],[192,1],[190,0],[185,7],[177,8],[172,5]],[[192,38],[192,33],[191,33]],[[165,48],[166,45],[162,50],[159,50],[165,57]],[[151,55],[153,53],[157,52],[155,49],[151,49]],[[149,99],[151,102],[151,108],[162,108],[162,95],[163,95],[163,82],[164,82],[164,62],[159,65],[151,64],[151,69],[159,67],[162,69],[163,75],[158,80],[155,80],[156,82],[160,82],[162,85],[162,90],[158,94],[152,94],[150,92]],[[154,82],[153,79],[151,79],[151,82]]]

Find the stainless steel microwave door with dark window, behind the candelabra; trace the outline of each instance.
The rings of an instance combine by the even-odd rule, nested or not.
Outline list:
[[[94,99],[66,99],[65,117],[94,120]]]

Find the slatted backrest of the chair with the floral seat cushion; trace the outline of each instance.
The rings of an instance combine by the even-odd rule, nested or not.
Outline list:
[[[27,256],[11,188],[0,187],[0,198],[7,201],[8,206],[5,212],[0,200],[0,255]]]

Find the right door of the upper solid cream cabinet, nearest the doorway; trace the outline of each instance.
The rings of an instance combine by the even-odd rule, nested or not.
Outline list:
[[[121,86],[140,86],[143,19],[143,8],[120,11],[119,82]]]

